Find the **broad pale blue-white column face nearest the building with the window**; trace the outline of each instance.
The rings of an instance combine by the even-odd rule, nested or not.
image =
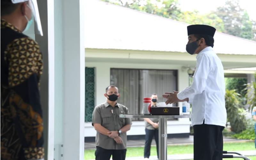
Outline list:
[[[63,0],[63,158],[84,159],[84,0]]]

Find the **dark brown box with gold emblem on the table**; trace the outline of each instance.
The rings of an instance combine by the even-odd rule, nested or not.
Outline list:
[[[180,115],[180,107],[151,107],[151,115]]]

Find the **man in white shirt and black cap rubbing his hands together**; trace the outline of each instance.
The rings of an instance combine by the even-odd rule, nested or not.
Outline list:
[[[197,54],[192,84],[181,92],[167,92],[166,104],[192,103],[191,121],[194,128],[194,160],[222,159],[223,136],[227,112],[223,66],[213,51],[216,29],[207,25],[188,26],[189,54]]]

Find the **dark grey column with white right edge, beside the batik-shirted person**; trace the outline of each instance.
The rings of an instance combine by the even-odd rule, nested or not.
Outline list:
[[[45,159],[54,154],[54,3],[51,0],[37,1],[44,36],[36,35],[43,54],[44,69],[40,94],[44,120]]]

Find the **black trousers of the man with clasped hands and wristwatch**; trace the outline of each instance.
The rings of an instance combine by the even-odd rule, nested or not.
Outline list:
[[[95,160],[110,160],[112,155],[113,160],[125,160],[126,149],[104,149],[96,147]]]

